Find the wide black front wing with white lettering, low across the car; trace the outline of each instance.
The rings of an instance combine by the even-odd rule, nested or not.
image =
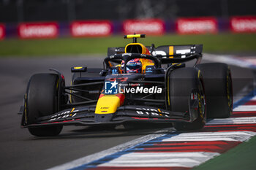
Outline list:
[[[109,125],[126,122],[173,123],[193,122],[197,112],[190,108],[187,112],[170,112],[167,109],[146,106],[122,106],[112,114],[95,114],[95,106],[73,107],[52,115],[37,118],[36,123],[26,123],[23,113],[21,128],[48,125]]]

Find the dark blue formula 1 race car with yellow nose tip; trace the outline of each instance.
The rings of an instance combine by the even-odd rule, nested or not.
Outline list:
[[[203,45],[146,47],[137,42],[143,37],[126,35],[132,43],[109,47],[103,69],[72,67],[70,86],[56,70],[34,74],[20,108],[21,128],[34,136],[59,135],[63,125],[170,123],[189,131],[203,128],[206,115],[230,116],[233,89],[225,63],[200,63]]]

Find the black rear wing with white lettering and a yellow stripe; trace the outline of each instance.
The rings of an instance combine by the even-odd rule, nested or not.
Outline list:
[[[186,62],[192,59],[200,61],[203,52],[203,45],[163,45],[159,47],[152,45],[147,48],[151,55],[159,58],[162,63]],[[124,47],[108,48],[108,57],[121,53],[124,53]]]

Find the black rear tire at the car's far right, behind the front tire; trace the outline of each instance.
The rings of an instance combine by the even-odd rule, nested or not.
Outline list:
[[[207,118],[227,118],[233,111],[233,88],[230,69],[225,63],[201,63],[206,91]]]

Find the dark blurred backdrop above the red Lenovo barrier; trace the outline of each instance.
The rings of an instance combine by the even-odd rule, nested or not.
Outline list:
[[[255,0],[1,0],[0,22],[256,15]]]

